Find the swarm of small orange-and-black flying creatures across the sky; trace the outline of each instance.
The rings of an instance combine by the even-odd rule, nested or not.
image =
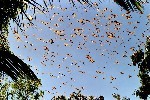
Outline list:
[[[147,20],[147,23],[144,24],[144,29],[142,29],[143,32],[141,32],[140,24],[142,22],[138,19],[134,20],[135,17],[132,13],[126,12],[123,9],[118,12],[114,12],[113,10],[114,9],[111,9],[110,7],[100,7],[96,2],[93,3],[93,7],[89,8],[84,7],[83,5],[77,5],[76,7],[70,6],[70,8],[61,5],[50,5],[48,6],[48,10],[45,11],[45,14],[40,13],[40,11],[37,10],[36,16],[28,15],[29,19],[32,20],[35,25],[32,26],[30,23],[22,24],[24,27],[23,34],[19,33],[15,28],[12,28],[14,37],[18,42],[23,43],[23,41],[26,41],[23,43],[24,45],[18,45],[16,48],[18,48],[18,50],[20,48],[30,48],[30,50],[35,53],[38,50],[44,51],[45,53],[41,56],[43,59],[40,62],[40,66],[35,67],[35,73],[49,75],[56,80],[59,80],[61,77],[69,77],[70,80],[62,82],[60,87],[67,85],[69,81],[77,80],[77,78],[71,76],[71,73],[74,72],[72,66],[74,66],[74,69],[77,68],[76,74],[79,75],[89,75],[89,72],[84,70],[85,67],[89,67],[88,69],[91,70],[93,68],[97,69],[93,70],[92,75],[90,74],[91,76],[89,76],[89,78],[97,80],[109,79],[110,83],[113,83],[117,80],[117,77],[113,76],[113,74],[105,77],[107,76],[107,73],[110,73],[107,72],[107,68],[109,67],[107,64],[109,64],[109,62],[112,63],[113,61],[114,64],[111,65],[118,66],[123,62],[121,60],[122,58],[130,59],[130,56],[137,47],[135,44],[132,47],[128,47],[127,45],[130,45],[132,39],[135,39],[135,41],[138,42],[136,43],[137,45],[144,47],[145,41],[140,39],[146,37],[146,32],[150,32],[149,28],[147,28],[149,25],[147,20],[149,16],[145,19]],[[41,16],[46,17],[42,18],[40,17],[40,14]],[[134,12],[134,14],[136,13]],[[137,15],[139,19],[142,19],[142,14]],[[38,24],[41,26],[39,27]],[[39,33],[25,31],[28,29],[35,29]],[[138,31],[140,31],[140,33]],[[28,39],[30,36],[35,41],[30,41],[30,39]],[[60,42],[61,44],[59,44]],[[43,44],[43,46],[36,48],[34,47],[36,43]],[[56,48],[56,51],[52,51],[52,48]],[[71,51],[68,51],[66,54],[61,54],[61,52],[57,52],[57,50],[61,48],[66,48],[63,50],[69,49]],[[73,51],[83,52],[83,54],[75,55]],[[82,60],[77,59],[78,57],[80,59],[80,56],[82,56]],[[57,58],[61,61],[57,61]],[[27,59],[29,62],[34,60],[33,57],[27,57]],[[67,63],[68,59],[70,60],[70,66],[65,66],[64,63]],[[95,63],[99,65],[96,66]],[[88,66],[88,64],[91,66]],[[41,66],[44,66],[47,69],[53,69],[55,67],[55,69],[58,69],[58,73],[41,72],[38,69]],[[129,68],[129,66],[132,66],[132,62],[130,62],[130,64],[120,65],[120,67],[122,66],[127,66],[127,68]],[[60,72],[59,69],[64,71]],[[66,73],[63,74],[63,72]],[[133,72],[131,72],[131,74]],[[132,78],[132,75],[127,74],[124,70],[117,73],[118,75],[124,75],[129,79]],[[100,78],[100,76],[103,77]],[[51,80],[51,78],[49,80]],[[52,90],[57,90],[57,88],[60,87],[52,86]],[[113,88],[118,90],[115,85]],[[84,89],[84,86],[81,86],[80,89]],[[50,91],[51,90],[48,90],[49,93],[52,93]]]

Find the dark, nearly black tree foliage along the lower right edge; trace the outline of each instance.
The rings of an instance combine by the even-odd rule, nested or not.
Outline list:
[[[141,87],[136,91],[136,96],[146,100],[150,95],[150,37],[147,37],[145,52],[142,50],[136,51],[131,56],[133,65],[138,65]]]

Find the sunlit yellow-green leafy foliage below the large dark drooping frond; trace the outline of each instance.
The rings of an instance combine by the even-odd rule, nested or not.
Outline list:
[[[39,100],[44,92],[39,89],[39,81],[18,79],[18,81],[1,80],[0,99],[11,100]]]

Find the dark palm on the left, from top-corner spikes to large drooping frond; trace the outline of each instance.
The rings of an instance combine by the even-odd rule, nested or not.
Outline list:
[[[35,8],[39,5],[34,0],[0,0],[0,72],[7,74],[13,80],[18,78],[27,78],[38,80],[37,76],[30,69],[30,66],[24,63],[21,59],[15,56],[8,46],[8,24],[10,19],[20,27],[19,18],[17,17],[18,10],[21,14],[26,16],[27,3],[33,5]],[[27,17],[27,19],[29,19]]]

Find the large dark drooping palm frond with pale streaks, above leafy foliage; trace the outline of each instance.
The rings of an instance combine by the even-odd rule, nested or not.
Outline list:
[[[0,71],[5,72],[13,80],[18,78],[38,80],[30,66],[8,50],[0,50]]]

